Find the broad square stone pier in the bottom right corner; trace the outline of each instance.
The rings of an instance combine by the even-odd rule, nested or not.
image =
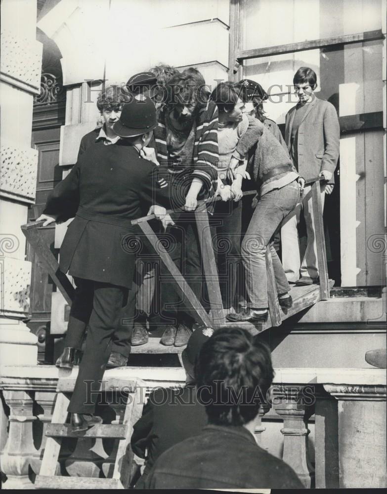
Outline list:
[[[387,487],[386,386],[324,384],[338,400],[340,488]]]

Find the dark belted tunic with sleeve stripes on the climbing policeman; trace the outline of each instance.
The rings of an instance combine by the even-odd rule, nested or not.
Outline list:
[[[60,249],[60,269],[130,288],[141,247],[133,238],[140,230],[131,220],[145,216],[152,204],[170,208],[170,197],[176,196],[161,173],[122,140],[90,146],[50,193],[44,209],[62,221],[75,216]]]

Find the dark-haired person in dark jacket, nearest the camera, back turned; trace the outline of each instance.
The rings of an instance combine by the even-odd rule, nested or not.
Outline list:
[[[273,379],[267,347],[247,329],[216,329],[195,373],[209,425],[161,454],[145,489],[302,489],[294,470],[254,438]]]

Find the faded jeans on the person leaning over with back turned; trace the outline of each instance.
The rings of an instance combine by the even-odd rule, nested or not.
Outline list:
[[[295,180],[281,189],[274,189],[260,198],[246,235],[241,253],[245,268],[249,307],[265,309],[267,302],[266,248],[270,248],[277,293],[290,291],[281,261],[273,246],[275,234],[282,220],[296,207],[300,199],[300,186]]]

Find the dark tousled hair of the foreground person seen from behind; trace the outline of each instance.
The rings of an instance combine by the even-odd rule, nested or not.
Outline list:
[[[202,346],[195,375],[209,422],[243,425],[253,420],[273,380],[270,351],[246,329],[217,329]]]

